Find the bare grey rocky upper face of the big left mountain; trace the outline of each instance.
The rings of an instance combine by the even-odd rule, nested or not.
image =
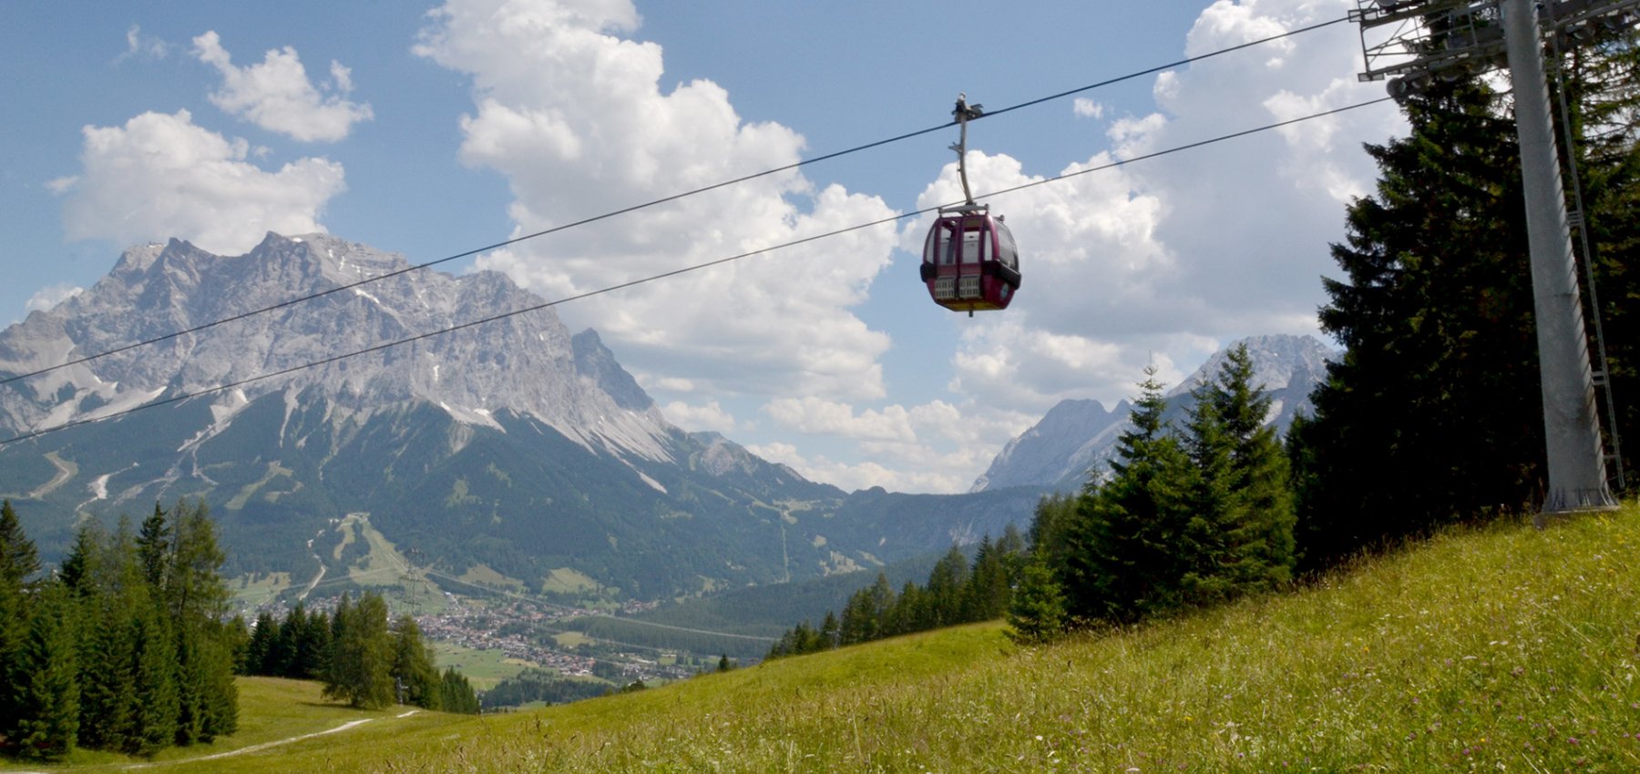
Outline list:
[[[0,331],[0,374],[326,295],[13,382],[0,389],[0,428],[46,430],[236,384],[208,397],[218,423],[276,392],[321,397],[341,410],[338,421],[426,402],[467,425],[499,426],[494,413],[505,408],[587,448],[669,456],[672,428],[653,400],[597,333],[571,336],[551,308],[300,369],[543,303],[502,274],[407,269],[402,256],[328,234],[267,234],[243,256],[182,241],[133,248],[90,290]]]

